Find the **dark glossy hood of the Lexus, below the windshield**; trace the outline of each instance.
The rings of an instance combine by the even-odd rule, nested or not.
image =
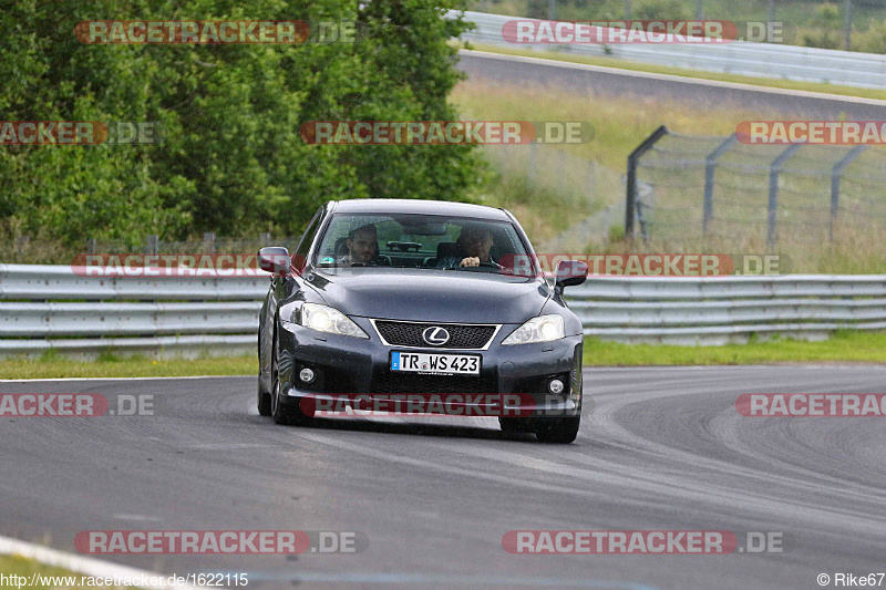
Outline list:
[[[310,282],[348,315],[430,322],[523,323],[552,294],[540,279],[460,270],[353,269],[315,272]]]

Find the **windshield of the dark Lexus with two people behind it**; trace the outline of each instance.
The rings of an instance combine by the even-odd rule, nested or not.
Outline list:
[[[323,269],[389,267],[529,275],[529,258],[517,230],[506,221],[414,214],[336,214],[323,232],[313,263]]]

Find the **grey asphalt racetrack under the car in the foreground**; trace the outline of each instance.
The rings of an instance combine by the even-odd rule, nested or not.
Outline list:
[[[124,555],[259,588],[821,588],[886,570],[886,418],[745,417],[742,393],[877,393],[886,368],[594,369],[578,439],[490,417],[277,426],[254,377],[0,382],[153,415],[0,418],[0,535],[75,551],[85,530],[352,531],[357,553]],[[144,398],[144,397],[143,397]],[[782,552],[513,555],[512,530],[780,535]],[[886,581],[884,581],[886,583]]]

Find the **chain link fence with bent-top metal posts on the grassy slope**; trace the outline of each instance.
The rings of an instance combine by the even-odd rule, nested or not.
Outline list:
[[[771,246],[879,236],[879,146],[746,145],[660,127],[629,158],[626,234],[735,237]]]

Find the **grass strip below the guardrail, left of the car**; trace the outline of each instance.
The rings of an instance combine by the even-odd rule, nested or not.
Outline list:
[[[103,353],[95,361],[72,361],[58,354],[41,359],[0,360],[0,379],[173,377],[193,375],[255,375],[255,356],[217,359],[121,359]]]

